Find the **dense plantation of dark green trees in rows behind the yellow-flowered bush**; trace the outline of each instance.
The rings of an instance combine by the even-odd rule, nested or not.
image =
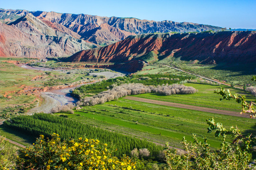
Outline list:
[[[4,121],[4,126],[20,132],[29,133],[33,136],[43,134],[50,137],[50,134],[57,133],[62,139],[78,138],[85,135],[87,138],[99,139],[100,141],[113,143],[118,150],[116,156],[129,154],[134,148],[148,148],[152,155],[158,154],[162,146],[153,144],[146,140],[110,132],[91,125],[83,124],[71,119],[54,116],[51,114],[34,114],[33,116],[19,116]]]

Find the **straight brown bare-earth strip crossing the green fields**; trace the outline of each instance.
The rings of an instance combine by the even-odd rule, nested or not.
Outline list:
[[[176,108],[183,108],[183,109],[189,109],[189,110],[198,110],[198,111],[205,111],[209,113],[217,113],[217,114],[223,114],[223,115],[229,115],[229,116],[237,116],[242,118],[250,118],[249,114],[240,114],[235,111],[228,111],[228,110],[218,110],[218,109],[211,109],[211,108],[205,108],[205,107],[199,107],[199,106],[192,106],[187,104],[180,104],[180,103],[173,103],[173,102],[163,102],[163,101],[157,101],[152,99],[144,99],[140,97],[133,97],[133,96],[126,96],[124,99],[138,101],[138,102],[147,102],[147,103],[153,103],[153,104],[160,104],[165,106],[172,106]]]

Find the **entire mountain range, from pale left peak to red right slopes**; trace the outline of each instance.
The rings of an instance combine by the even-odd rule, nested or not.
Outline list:
[[[201,64],[256,62],[255,31],[12,9],[0,9],[0,21],[0,56],[111,62],[115,65],[108,67],[129,71],[141,69],[145,62],[175,59]]]

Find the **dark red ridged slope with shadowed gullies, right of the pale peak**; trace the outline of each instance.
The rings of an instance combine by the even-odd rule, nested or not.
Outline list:
[[[256,62],[256,32],[142,34],[109,46],[75,53],[66,61],[127,62],[180,58],[215,64]]]

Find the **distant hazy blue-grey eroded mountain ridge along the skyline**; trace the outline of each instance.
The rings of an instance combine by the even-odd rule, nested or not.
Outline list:
[[[0,20],[10,23],[27,15],[61,24],[79,34],[81,39],[101,45],[124,40],[129,35],[168,32],[201,32],[208,30],[221,30],[218,26],[194,24],[189,22],[178,23],[174,21],[149,21],[137,18],[99,17],[86,14],[61,14],[56,12],[43,12],[26,10],[0,9]]]

